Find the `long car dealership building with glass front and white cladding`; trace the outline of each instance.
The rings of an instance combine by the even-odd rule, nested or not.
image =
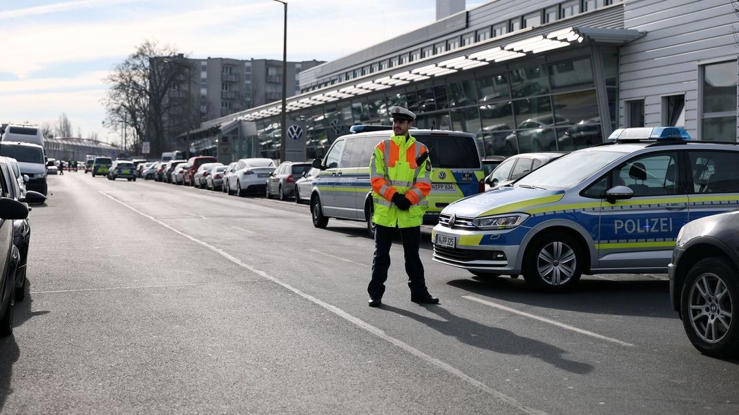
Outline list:
[[[287,125],[304,130],[309,159],[351,125],[388,124],[393,105],[418,114],[418,128],[473,133],[481,156],[573,150],[619,127],[680,125],[694,139],[735,142],[732,6],[489,1],[305,70],[302,93],[287,100]],[[217,147],[226,161],[279,158],[281,112],[282,102],[270,102],[212,119],[194,131],[195,147]]]

